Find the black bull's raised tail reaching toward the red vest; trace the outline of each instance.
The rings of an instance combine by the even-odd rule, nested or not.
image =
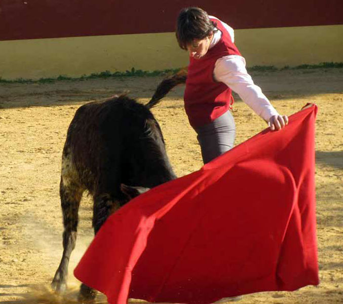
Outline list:
[[[157,106],[160,100],[167,95],[167,93],[175,86],[180,83],[185,83],[187,79],[187,71],[182,69],[178,73],[168,76],[162,80],[162,82],[157,86],[156,91],[151,97],[150,101],[146,104],[149,109]]]

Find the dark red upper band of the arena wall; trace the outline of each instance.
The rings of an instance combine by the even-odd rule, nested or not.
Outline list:
[[[188,6],[237,29],[343,24],[343,0],[0,0],[0,40],[169,32]]]

